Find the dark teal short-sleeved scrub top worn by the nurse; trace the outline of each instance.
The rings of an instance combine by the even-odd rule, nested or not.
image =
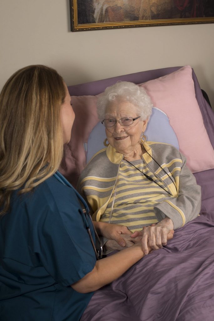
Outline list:
[[[13,193],[0,219],[0,320],[80,319],[93,292],[70,285],[96,263],[82,215],[74,189],[54,176],[31,193]]]

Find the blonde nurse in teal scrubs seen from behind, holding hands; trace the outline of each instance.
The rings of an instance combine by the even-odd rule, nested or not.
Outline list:
[[[57,171],[74,118],[62,77],[46,66],[18,70],[0,94],[0,320],[78,321],[95,290],[144,256],[136,242],[98,259],[87,205]],[[126,227],[95,224],[126,245]]]

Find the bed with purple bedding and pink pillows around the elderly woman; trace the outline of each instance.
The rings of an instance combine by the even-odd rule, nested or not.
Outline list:
[[[165,127],[173,129],[202,188],[201,212],[176,230],[166,247],[145,256],[118,280],[96,291],[81,321],[213,321],[214,113],[190,66],[69,86],[76,119],[60,171],[76,186],[88,161],[90,134],[98,124],[97,96],[117,81],[142,85],[155,107],[167,115],[169,124],[163,131]]]

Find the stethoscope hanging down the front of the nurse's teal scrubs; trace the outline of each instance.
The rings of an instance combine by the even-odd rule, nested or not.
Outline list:
[[[66,185],[66,186],[72,188],[73,191],[75,192],[75,194],[77,195],[78,199],[80,200],[80,202],[85,207],[85,209],[83,209],[81,211],[81,216],[82,216],[83,222],[85,223],[85,227],[86,227],[86,230],[88,232],[89,238],[91,240],[91,244],[93,246],[93,249],[95,251],[96,258],[97,258],[97,260],[101,259],[103,257],[103,248],[102,248],[99,236],[97,234],[97,231],[95,230],[95,227],[94,227],[94,224],[93,224],[93,221],[92,221],[92,217],[91,217],[91,214],[90,214],[90,210],[89,210],[89,207],[88,207],[86,201],[84,200],[84,198],[78,193],[78,191],[69,183],[69,181],[59,171],[57,171],[54,174],[54,177],[59,182],[61,182],[63,185]],[[92,223],[92,226],[93,226],[93,229],[94,229],[94,233],[95,233],[95,239],[97,240],[96,243],[98,243],[97,244],[98,248],[96,248],[96,246],[95,246],[95,242],[94,242],[94,239],[92,237],[90,226],[89,226],[89,223],[88,223],[88,218]]]

